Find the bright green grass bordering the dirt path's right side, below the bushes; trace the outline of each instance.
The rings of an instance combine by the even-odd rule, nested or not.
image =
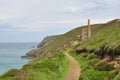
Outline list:
[[[118,71],[99,71],[91,67],[91,60],[84,58],[82,54],[76,55],[71,53],[71,55],[79,62],[81,68],[80,80],[114,80]],[[99,62],[100,60],[97,60]],[[96,62],[96,63],[97,63]]]

